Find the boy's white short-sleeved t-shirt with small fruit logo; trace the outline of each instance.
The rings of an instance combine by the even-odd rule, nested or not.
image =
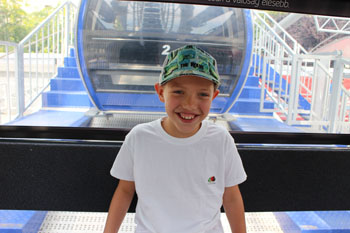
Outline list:
[[[130,131],[111,175],[135,182],[137,233],[223,233],[225,187],[247,177],[226,129],[203,121],[192,137],[175,138],[161,119]]]

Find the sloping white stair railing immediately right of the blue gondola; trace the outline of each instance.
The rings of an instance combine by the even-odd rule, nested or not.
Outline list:
[[[260,111],[282,112],[288,116],[290,86],[283,77],[290,77],[294,56],[307,54],[307,51],[266,12],[253,10],[252,15],[254,24],[252,67],[254,75],[261,78]],[[273,109],[264,107],[266,100],[275,103]]]

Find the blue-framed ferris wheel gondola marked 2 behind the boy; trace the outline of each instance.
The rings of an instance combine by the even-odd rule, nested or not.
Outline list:
[[[82,0],[77,22],[79,69],[100,111],[163,111],[154,84],[165,55],[186,44],[212,54],[222,79],[212,113],[237,99],[252,54],[250,11],[227,7]]]

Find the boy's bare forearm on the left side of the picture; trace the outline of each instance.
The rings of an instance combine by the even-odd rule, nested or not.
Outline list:
[[[119,180],[109,206],[108,217],[104,233],[116,233],[129,209],[135,194],[135,183],[132,181]]]

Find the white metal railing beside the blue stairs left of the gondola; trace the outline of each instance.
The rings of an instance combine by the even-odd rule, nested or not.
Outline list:
[[[0,99],[0,124],[41,107],[37,100],[74,44],[75,12],[76,6],[68,0],[18,44],[0,42],[0,47],[9,51],[0,57],[0,62],[6,64],[0,68],[0,88],[15,90],[7,93],[7,99]]]

